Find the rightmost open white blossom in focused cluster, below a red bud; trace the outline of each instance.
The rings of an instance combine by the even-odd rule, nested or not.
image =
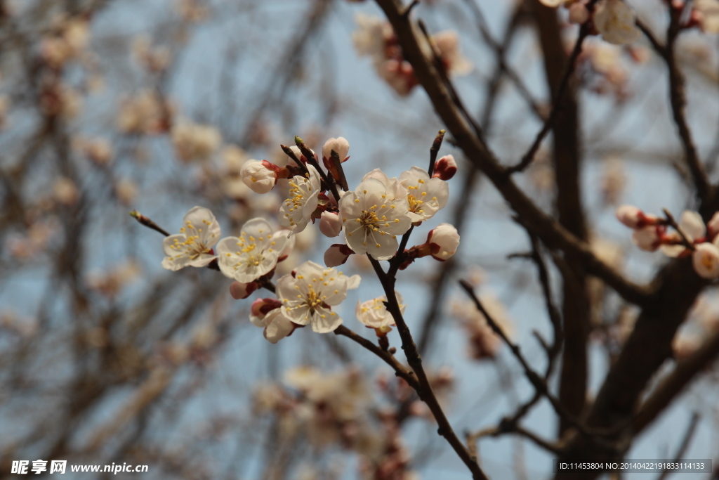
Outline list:
[[[412,167],[403,172],[400,184],[407,189],[408,217],[412,222],[434,217],[449,199],[449,184],[441,178],[429,178],[423,168]]]

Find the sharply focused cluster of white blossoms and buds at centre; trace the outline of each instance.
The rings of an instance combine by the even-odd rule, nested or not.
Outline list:
[[[353,254],[366,254],[375,261],[393,259],[398,253],[398,237],[445,207],[449,198],[446,180],[457,172],[454,158],[446,155],[436,160],[431,175],[415,166],[398,178],[389,178],[377,168],[367,173],[352,191],[347,189],[342,171],[342,163],[349,159],[347,140],[331,138],[324,144],[322,160],[327,174],[318,156],[299,139],[298,145],[302,149],[283,148],[296,166],[278,166],[267,160],[244,160],[242,155],[233,155],[237,159],[232,170],[239,171],[244,186],[258,194],[267,194],[280,178],[286,179],[288,198],[279,207],[279,227],[273,227],[266,219],[253,218],[244,222],[239,236],[221,239],[214,214],[209,209],[194,207],[183,219],[180,233],[165,237],[162,245],[166,255],[162,261],[164,268],[173,271],[186,266],[216,268],[234,280],[230,294],[235,299],[245,299],[260,288],[273,291],[274,297],[257,299],[250,312],[252,324],[262,327],[271,343],[306,325],[319,333],[336,330],[342,317],[334,309],[347,298],[347,291],[359,286],[360,279],[358,275],[346,276],[335,267]],[[275,286],[272,278],[278,264],[290,258],[298,237],[304,235],[298,234],[317,220],[323,235],[344,234],[346,243],[332,245],[326,251],[326,266],[306,261],[296,268],[283,268],[288,273],[280,276]],[[446,261],[458,246],[457,230],[452,225],[440,224],[429,232],[426,243],[400,252],[402,263],[397,268],[406,268],[416,258],[430,255]],[[291,258],[290,262],[296,263],[296,255]],[[404,312],[406,306],[398,292],[395,299],[400,312]],[[356,309],[357,319],[375,329],[380,337],[395,324],[385,302],[387,298],[380,296],[358,302]]]

